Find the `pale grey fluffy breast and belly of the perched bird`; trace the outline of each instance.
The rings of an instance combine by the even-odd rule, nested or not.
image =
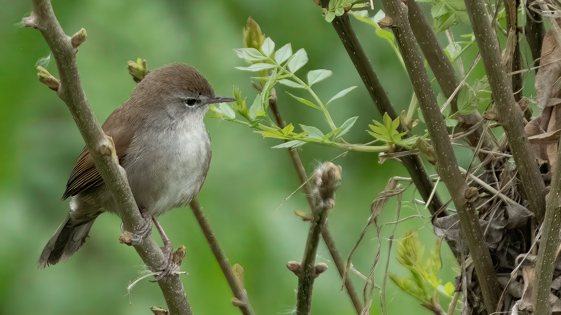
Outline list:
[[[155,217],[199,194],[210,166],[203,117],[172,119],[135,134],[122,161],[136,203]]]

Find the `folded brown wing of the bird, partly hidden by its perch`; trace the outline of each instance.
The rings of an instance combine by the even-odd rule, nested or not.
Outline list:
[[[126,155],[128,145],[130,145],[132,137],[134,136],[134,131],[119,131],[121,131],[121,133],[113,138],[113,142],[115,144],[115,150],[117,151],[117,158],[119,159],[119,163],[121,163],[122,158]],[[84,147],[82,153],[80,153],[80,156],[74,164],[74,168],[72,168],[62,200],[65,200],[70,196],[76,196],[90,187],[102,184],[103,178],[99,174],[98,169],[95,167],[94,159],[91,157],[91,153],[88,148]]]

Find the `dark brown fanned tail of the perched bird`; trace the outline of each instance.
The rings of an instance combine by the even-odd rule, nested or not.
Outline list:
[[[58,227],[57,232],[54,233],[47,246],[45,246],[41,257],[37,261],[37,267],[42,269],[48,265],[57,264],[60,261],[65,262],[84,245],[96,218],[97,216],[88,222],[77,224],[72,220],[71,212],[68,213],[65,220]]]

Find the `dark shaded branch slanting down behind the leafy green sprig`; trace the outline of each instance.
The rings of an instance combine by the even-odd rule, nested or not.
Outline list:
[[[320,2],[322,7],[327,8],[329,0],[321,0]],[[396,119],[398,117],[396,110],[393,108],[388,94],[381,86],[378,76],[376,76],[364,49],[362,49],[362,46],[358,41],[358,37],[351,25],[351,21],[349,20],[348,13],[345,12],[342,16],[335,17],[332,25],[335,31],[337,31],[344,48],[347,50],[352,63],[355,65],[358,75],[361,77],[362,82],[364,82],[366,90],[369,92],[370,97],[374,101],[380,114],[387,112],[392,120]],[[401,125],[399,128],[401,132],[408,131]],[[410,134],[408,134],[408,136],[410,136]],[[411,178],[413,178],[413,182],[415,182],[415,186],[417,186],[417,190],[419,190],[423,200],[429,200],[429,196],[434,188],[434,183],[430,179],[421,158],[417,155],[405,156],[401,158],[401,161],[403,166],[407,168]],[[440,195],[438,193],[434,194],[428,208],[431,214],[438,214],[438,217],[447,215],[446,211],[442,211],[442,209],[444,209],[444,203],[442,202],[442,199],[440,199]]]

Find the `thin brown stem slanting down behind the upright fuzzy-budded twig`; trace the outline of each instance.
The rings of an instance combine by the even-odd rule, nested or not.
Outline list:
[[[275,120],[277,120],[277,125],[280,128],[284,128],[286,126],[286,124],[284,123],[284,120],[280,116],[280,112],[279,112],[278,104],[277,104],[277,94],[275,93],[274,88],[273,88],[273,91],[272,91],[271,94],[272,94],[272,96],[269,99],[269,108],[271,109],[271,111],[273,111],[273,115],[275,116]],[[298,180],[300,180],[300,185],[304,185],[306,183],[306,181],[308,180],[308,176],[306,174],[306,170],[304,169],[304,166],[302,165],[302,160],[300,159],[300,154],[298,154],[297,150],[293,150],[292,148],[288,148],[288,153],[290,154],[290,157],[292,159],[292,163],[294,164],[296,174],[298,175]],[[308,186],[304,185],[302,188],[304,189],[304,192],[306,194],[306,198],[308,200],[308,203],[310,204],[310,209],[313,209],[314,205],[312,203],[310,192],[308,191]],[[345,274],[345,262],[343,261],[343,258],[341,258],[341,253],[339,253],[339,251],[337,251],[337,246],[335,246],[335,241],[333,239],[333,236],[329,232],[329,223],[328,223],[327,218],[325,219],[324,224],[321,225],[321,237],[323,238],[323,240],[325,242],[325,245],[327,245],[327,248],[329,249],[329,253],[331,254],[331,257],[333,258],[333,262],[335,263],[335,266],[337,266],[337,270],[339,271],[339,275],[341,276],[341,279],[343,279],[343,276]],[[362,314],[362,309],[364,307],[362,306],[362,303],[360,302],[360,299],[358,299],[358,295],[356,293],[355,286],[352,284],[351,279],[348,278],[348,277],[345,278],[344,285],[345,285],[345,288],[347,289],[347,294],[351,298],[351,301],[352,301],[353,305],[355,305],[355,309],[356,309],[357,314],[361,315]]]

